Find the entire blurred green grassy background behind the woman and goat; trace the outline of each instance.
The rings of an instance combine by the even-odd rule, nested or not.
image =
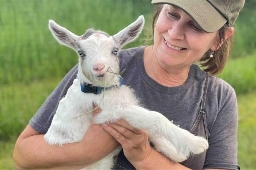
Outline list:
[[[48,30],[53,19],[81,35],[88,28],[115,34],[145,16],[139,39],[125,48],[152,43],[150,0],[0,0],[0,169],[14,169],[17,136],[59,81],[77,63]],[[238,160],[256,169],[256,1],[247,0],[235,26],[235,38],[220,77],[237,92]]]

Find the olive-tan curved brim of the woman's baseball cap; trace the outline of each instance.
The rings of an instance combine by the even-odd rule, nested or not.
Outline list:
[[[201,0],[153,0],[152,4],[170,4],[181,8],[207,33],[218,31],[227,19],[207,1]]]

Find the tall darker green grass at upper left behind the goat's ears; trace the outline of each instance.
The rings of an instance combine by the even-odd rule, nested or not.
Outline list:
[[[146,26],[150,25],[152,8],[148,1],[1,0],[0,85],[63,77],[77,62],[75,52],[51,35],[49,19],[78,35],[88,28],[113,35],[140,15],[145,16]]]

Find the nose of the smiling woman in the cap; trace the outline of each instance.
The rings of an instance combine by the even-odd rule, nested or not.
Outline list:
[[[185,38],[184,26],[179,21],[175,22],[172,28],[168,30],[168,34],[171,39],[183,40]]]

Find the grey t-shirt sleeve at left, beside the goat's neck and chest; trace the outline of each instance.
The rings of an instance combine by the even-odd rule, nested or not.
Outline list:
[[[56,113],[58,103],[66,95],[68,88],[73,84],[77,76],[78,65],[74,66],[68,74],[61,80],[54,91],[49,95],[44,104],[37,110],[30,119],[29,125],[40,134],[45,134]]]

